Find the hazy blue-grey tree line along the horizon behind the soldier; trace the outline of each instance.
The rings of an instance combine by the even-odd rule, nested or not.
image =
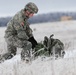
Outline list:
[[[73,20],[76,20],[76,12],[52,12],[52,13],[46,13],[46,14],[38,14],[30,18],[28,21],[30,22],[30,24],[56,22],[56,21],[60,21],[62,16],[71,16]],[[12,16],[1,17],[0,27],[7,26],[7,23],[11,18]]]

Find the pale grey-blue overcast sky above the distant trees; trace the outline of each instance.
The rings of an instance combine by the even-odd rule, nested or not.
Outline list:
[[[0,17],[13,16],[28,2],[34,2],[41,13],[54,11],[76,11],[76,0],[0,0]]]

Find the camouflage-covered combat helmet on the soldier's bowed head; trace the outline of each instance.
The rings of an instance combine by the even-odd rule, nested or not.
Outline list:
[[[24,10],[28,10],[32,13],[37,13],[38,12],[38,7],[36,6],[36,4],[29,2],[28,4],[26,4]]]

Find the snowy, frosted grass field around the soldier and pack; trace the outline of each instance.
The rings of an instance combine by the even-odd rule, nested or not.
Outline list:
[[[38,58],[26,64],[17,53],[12,59],[0,64],[0,75],[76,75],[76,21],[41,23],[31,25],[31,28],[38,42],[51,34],[60,39],[65,44],[65,57],[58,60]],[[5,29],[0,28],[0,54],[7,51],[3,38]]]

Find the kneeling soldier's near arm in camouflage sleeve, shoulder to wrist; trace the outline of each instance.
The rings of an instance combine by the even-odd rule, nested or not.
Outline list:
[[[13,20],[14,20],[13,26],[14,26],[15,30],[17,31],[17,37],[19,39],[28,40],[29,37],[27,36],[27,34],[25,32],[26,26],[25,26],[25,28],[24,28],[24,26],[22,26],[22,23],[24,23],[22,16],[20,14],[18,14],[13,18]]]

